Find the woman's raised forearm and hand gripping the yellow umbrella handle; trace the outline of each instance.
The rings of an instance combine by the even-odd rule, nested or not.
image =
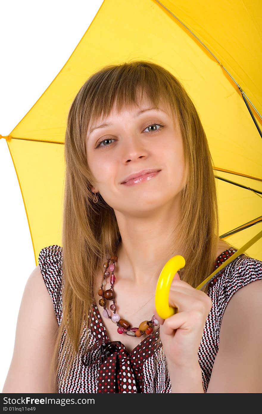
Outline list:
[[[178,313],[160,322],[160,338],[167,360],[171,392],[204,393],[202,371],[198,362],[198,349],[212,300],[204,292],[174,275],[169,290],[169,305]]]

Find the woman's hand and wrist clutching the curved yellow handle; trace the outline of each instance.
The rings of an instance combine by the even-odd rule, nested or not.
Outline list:
[[[198,362],[198,349],[212,300],[180,280],[176,273],[170,286],[169,306],[178,308],[178,313],[167,319],[160,318],[155,309],[164,354],[171,366],[190,368]]]

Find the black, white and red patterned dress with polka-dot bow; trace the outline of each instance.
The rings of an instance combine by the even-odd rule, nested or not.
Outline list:
[[[219,255],[213,271],[235,252],[236,250],[228,249]],[[58,325],[62,320],[62,258],[63,250],[58,245],[41,249],[38,257]],[[242,253],[224,267],[222,273],[208,285],[207,294],[212,299],[212,308],[205,323],[198,351],[204,392],[207,391],[219,349],[219,332],[226,306],[238,289],[258,279],[262,279],[262,262]],[[160,354],[162,343],[160,341],[158,348],[155,343],[160,326],[128,352],[121,343],[121,335],[119,341],[110,341],[95,303],[88,317],[91,318],[88,346],[86,325],[83,325],[79,353],[73,361],[67,378],[64,375],[64,359],[59,367],[58,393],[171,392],[166,359]],[[67,332],[64,331],[60,346],[66,335]]]

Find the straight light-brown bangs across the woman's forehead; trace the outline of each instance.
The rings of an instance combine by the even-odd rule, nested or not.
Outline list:
[[[120,66],[106,67],[95,78],[88,79],[86,85],[88,124],[95,123],[98,119],[103,122],[115,107],[119,112],[130,106],[141,106],[144,97],[150,101],[152,107],[160,108],[160,103],[171,109],[170,79],[163,75],[163,69],[147,66],[142,63],[122,64]]]

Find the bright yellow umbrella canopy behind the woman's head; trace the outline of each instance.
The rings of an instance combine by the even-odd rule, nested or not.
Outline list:
[[[50,86],[7,141],[36,264],[61,245],[67,113],[101,67],[150,60],[191,96],[214,161],[219,235],[240,248],[262,231],[262,39],[258,0],[104,0]],[[246,252],[262,260],[262,239]]]

